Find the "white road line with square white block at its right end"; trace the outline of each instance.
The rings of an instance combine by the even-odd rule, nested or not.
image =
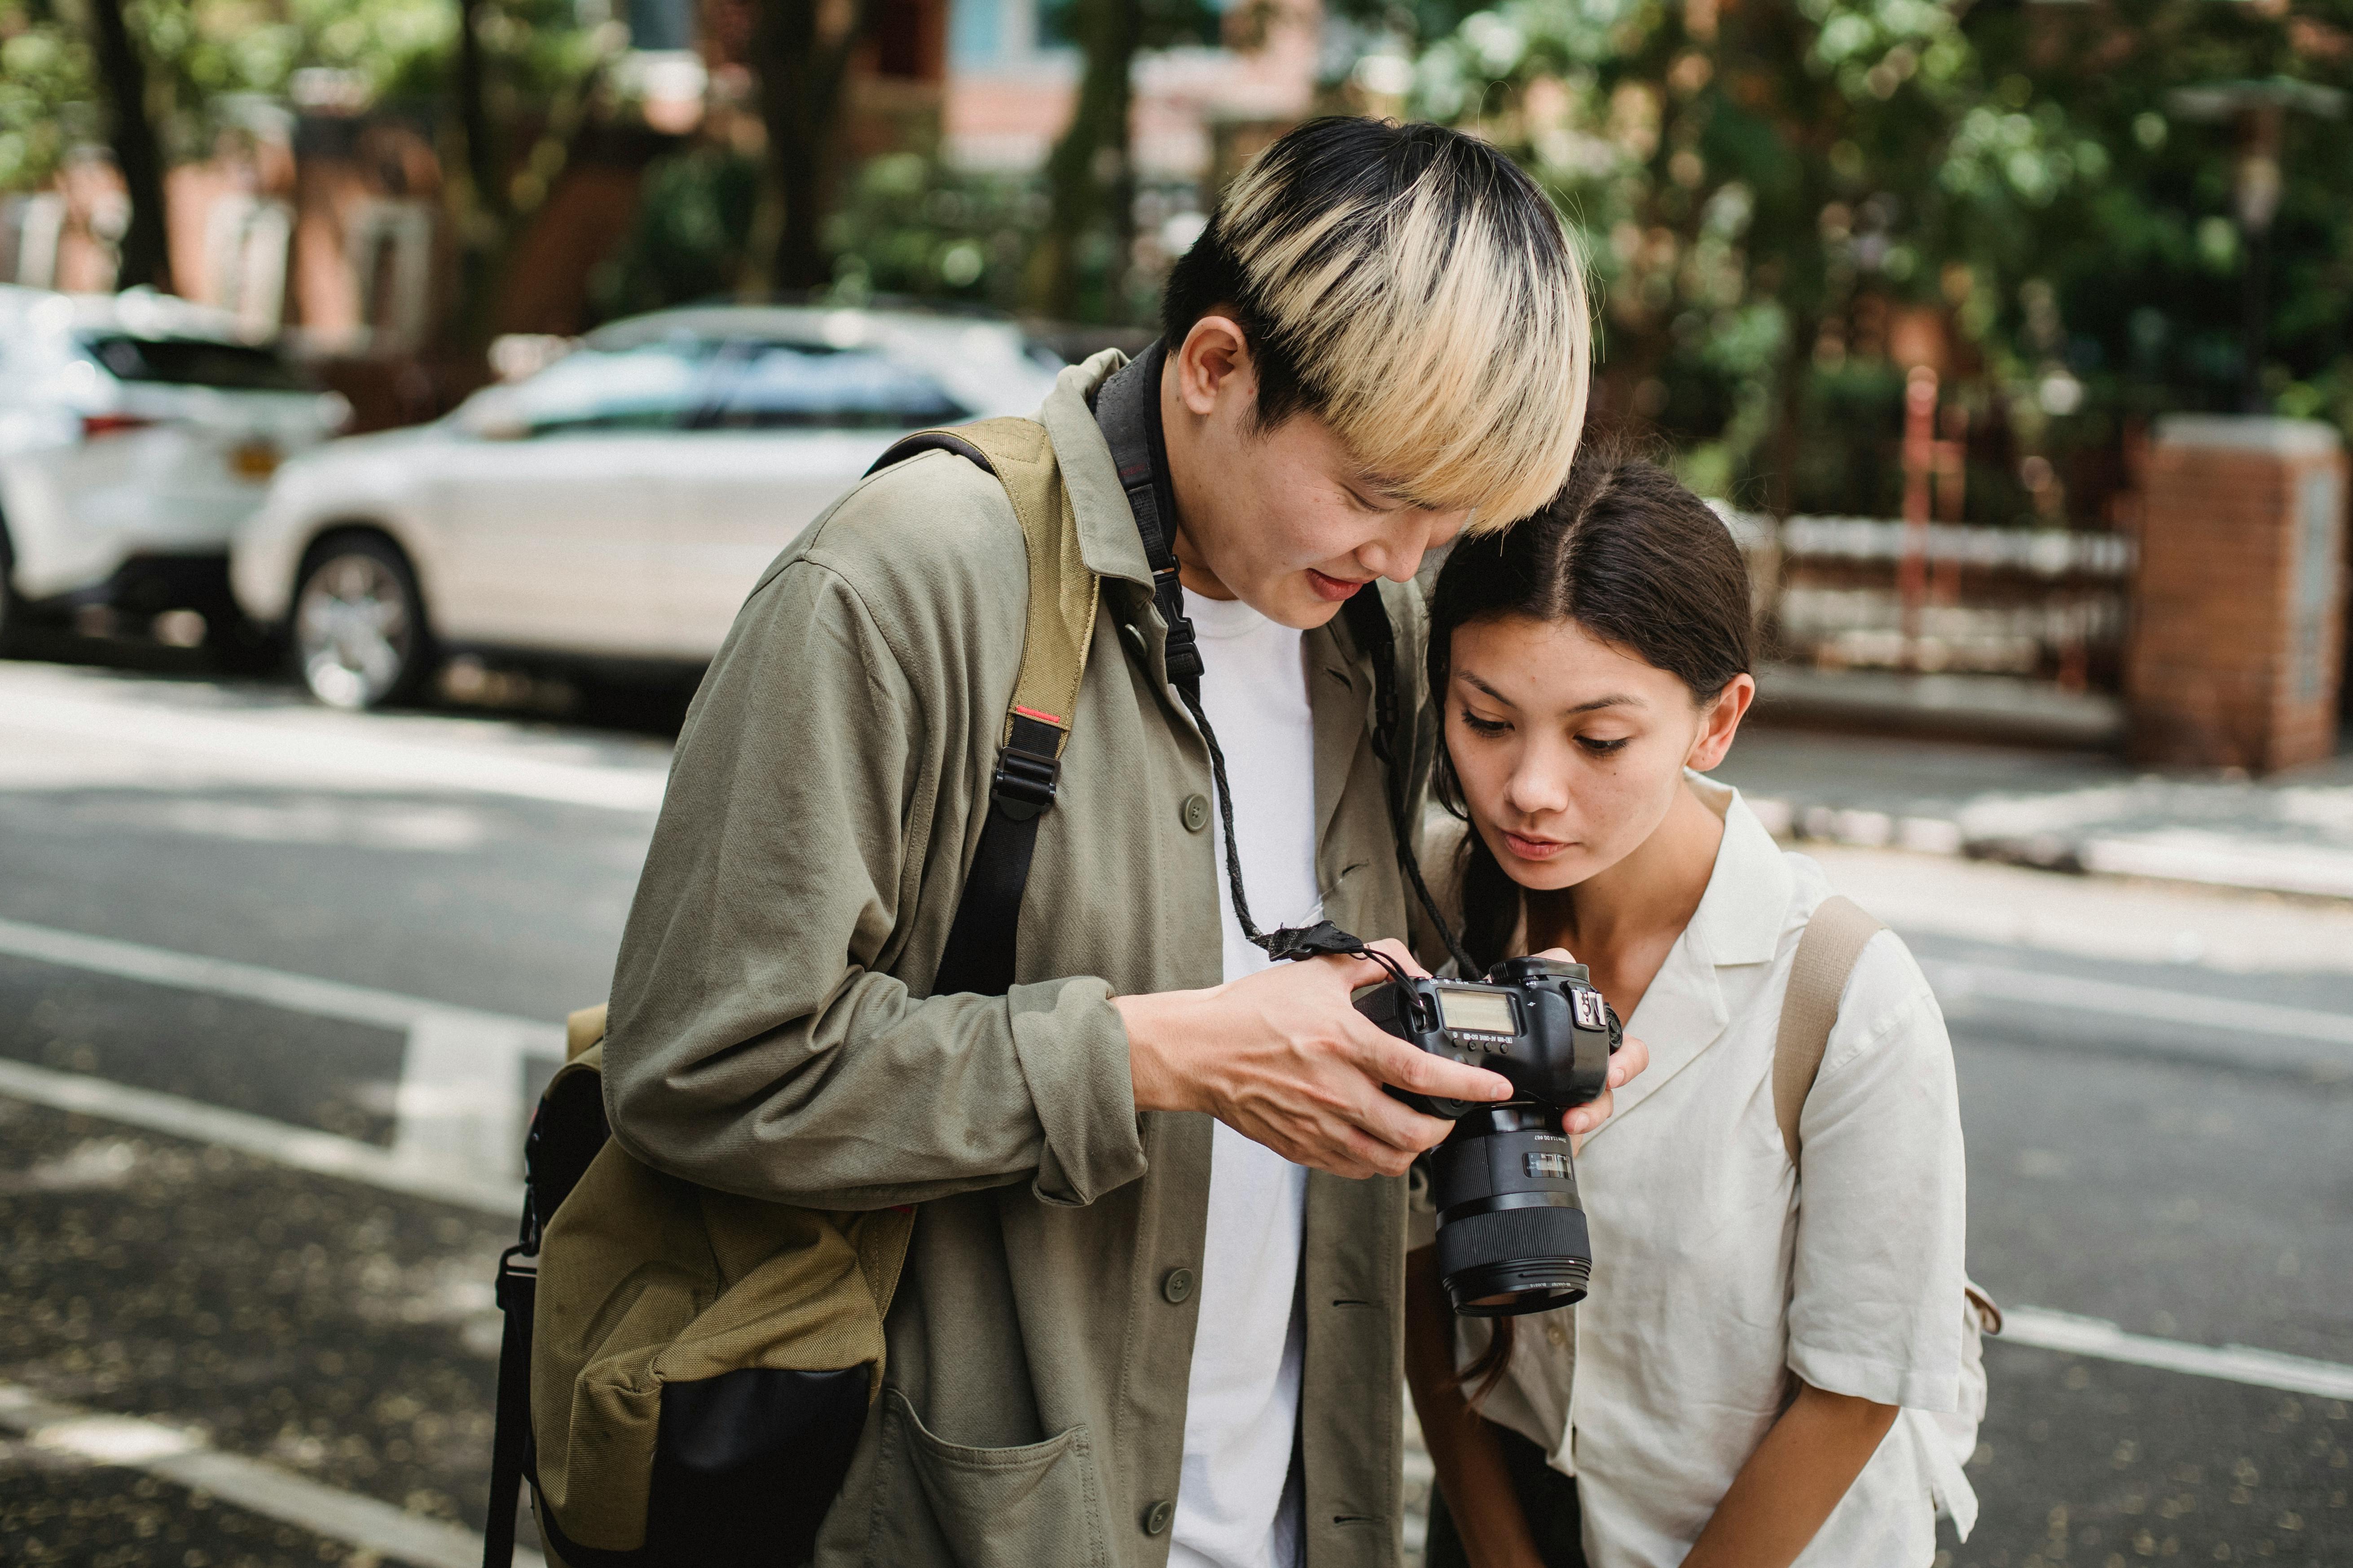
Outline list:
[[[522,1060],[565,1056],[562,1025],[536,1018],[485,1013],[82,931],[0,919],[0,954],[400,1030],[407,1034],[407,1048],[393,1143],[419,1161],[454,1159],[494,1175],[513,1175],[520,1168]]]

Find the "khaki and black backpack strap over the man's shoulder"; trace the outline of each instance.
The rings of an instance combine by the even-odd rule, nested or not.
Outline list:
[[[1014,983],[1021,889],[1028,884],[1031,853],[1038,846],[1038,818],[1054,806],[1101,585],[1078,552],[1071,491],[1061,482],[1061,465],[1042,423],[984,418],[953,430],[918,430],[894,442],[868,473],[920,451],[951,451],[995,475],[1021,522],[1021,548],[1028,557],[1021,675],[1014,679],[1005,729],[998,736],[981,846],[965,875],[955,924],[948,926],[948,945],[932,980],[934,994],[1000,997]]]

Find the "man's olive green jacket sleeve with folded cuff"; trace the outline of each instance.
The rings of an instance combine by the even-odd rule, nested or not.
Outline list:
[[[854,588],[812,559],[769,576],[694,698],[621,938],[605,1098],[631,1154],[807,1208],[1021,1180],[1089,1204],[1144,1173],[1108,983],[922,999],[880,971],[908,950],[913,839],[967,788],[939,773]]]

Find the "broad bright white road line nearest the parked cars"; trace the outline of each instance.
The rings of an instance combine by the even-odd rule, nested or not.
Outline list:
[[[369,790],[520,795],[565,806],[654,813],[668,766],[562,762],[482,745],[431,745],[353,733],[339,715],[282,712],[275,722],[108,703],[12,689],[5,726],[144,750],[195,752],[266,766],[285,783],[334,780]]]

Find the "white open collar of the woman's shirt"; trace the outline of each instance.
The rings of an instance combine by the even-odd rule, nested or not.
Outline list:
[[[1617,1114],[1591,1135],[1600,1138],[1642,1100],[1652,1098],[1678,1072],[1722,1039],[1732,1011],[1718,971],[1772,964],[1788,922],[1795,886],[1781,846],[1732,785],[1699,773],[1685,783],[1725,820],[1725,839],[1715,849],[1708,891],[1699,898],[1692,924],[1642,992],[1642,1006],[1626,1020],[1626,1032],[1649,1046],[1649,1070],[1617,1093]]]

